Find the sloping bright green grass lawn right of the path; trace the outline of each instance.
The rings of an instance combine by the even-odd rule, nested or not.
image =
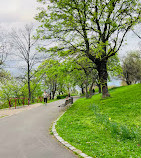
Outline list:
[[[141,158],[141,84],[110,94],[77,100],[58,121],[57,132],[92,157]]]

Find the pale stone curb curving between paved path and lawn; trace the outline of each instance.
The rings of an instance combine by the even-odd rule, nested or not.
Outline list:
[[[55,126],[57,125],[57,121],[59,121],[59,119],[66,113],[66,111],[61,114],[56,121],[53,122],[52,125],[52,133],[54,135],[54,137],[61,143],[63,144],[65,147],[67,147],[69,150],[73,151],[74,153],[78,154],[79,156],[83,157],[83,158],[92,158],[88,155],[86,155],[85,153],[83,153],[81,150],[76,149],[74,146],[72,146],[71,144],[69,144],[67,141],[65,141],[62,137],[59,136],[59,134],[56,131]]]

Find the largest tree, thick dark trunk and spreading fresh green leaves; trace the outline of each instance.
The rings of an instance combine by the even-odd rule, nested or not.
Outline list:
[[[109,96],[107,62],[115,56],[128,31],[140,20],[139,0],[38,0],[47,5],[36,16],[42,39],[56,39],[50,51],[88,57],[98,71],[103,97]],[[41,50],[46,50],[41,48]],[[61,54],[62,55],[62,54]]]

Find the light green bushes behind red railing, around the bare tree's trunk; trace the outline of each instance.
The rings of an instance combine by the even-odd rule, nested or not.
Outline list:
[[[35,79],[31,82],[31,92],[32,98],[30,103],[37,102],[37,98],[42,96],[43,93],[41,84],[37,83]],[[0,85],[0,108],[8,108],[9,101],[11,106],[15,106],[14,98],[22,98],[16,100],[17,106],[23,105],[23,98],[26,98],[24,99],[24,104],[27,105],[28,85],[9,75]]]

